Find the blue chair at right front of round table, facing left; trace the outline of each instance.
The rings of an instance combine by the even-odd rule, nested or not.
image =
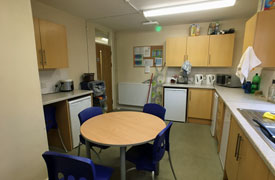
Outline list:
[[[153,144],[144,144],[139,146],[133,146],[126,152],[126,160],[134,163],[137,170],[145,170],[152,172],[152,178],[154,175],[158,175],[159,161],[164,156],[165,151],[168,151],[169,162],[171,169],[176,178],[173,165],[170,156],[170,143],[169,133],[172,126],[170,122],[156,137]]]

